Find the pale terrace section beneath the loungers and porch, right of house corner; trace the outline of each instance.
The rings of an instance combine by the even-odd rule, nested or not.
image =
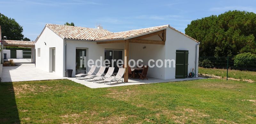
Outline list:
[[[84,78],[76,79],[76,78],[67,78],[71,81],[83,84],[89,88],[106,88],[106,87],[116,87],[116,86],[127,86],[127,85],[136,85],[136,84],[149,84],[149,83],[160,83],[160,82],[173,82],[173,81],[188,81],[188,80],[198,80],[198,79],[205,79],[205,78],[185,78],[185,79],[157,79],[148,77],[148,80],[139,80],[139,79],[130,79],[126,83],[122,83],[121,81],[113,82],[111,85],[104,84],[104,81],[100,81],[100,83],[93,83],[93,80],[84,81]],[[123,79],[124,80],[124,79]],[[98,81],[97,81],[98,82]],[[108,83],[109,84],[109,83]]]

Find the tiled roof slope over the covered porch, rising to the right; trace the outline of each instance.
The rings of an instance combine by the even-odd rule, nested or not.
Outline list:
[[[96,41],[129,38],[132,36],[141,35],[144,33],[149,33],[152,31],[160,30],[165,27],[169,27],[169,25],[148,27],[148,28],[142,28],[142,29],[137,29],[137,30],[123,31],[123,32],[116,32],[116,33],[98,38],[98,39],[96,39]]]

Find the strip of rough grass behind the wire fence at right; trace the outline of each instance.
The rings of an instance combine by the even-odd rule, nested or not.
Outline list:
[[[227,77],[227,69],[199,67],[198,73],[220,76],[221,78]],[[256,81],[256,72],[239,71],[239,70],[230,70],[229,69],[228,70],[228,78]]]

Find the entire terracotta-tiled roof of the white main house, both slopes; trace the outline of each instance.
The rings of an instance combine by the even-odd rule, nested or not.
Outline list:
[[[63,39],[75,39],[75,40],[90,40],[90,41],[104,41],[104,40],[116,40],[116,39],[129,39],[131,37],[140,36],[150,32],[155,32],[167,27],[185,35],[184,33],[176,30],[170,25],[148,27],[137,30],[123,31],[123,32],[110,32],[105,29],[87,28],[87,27],[76,27],[76,26],[65,26],[65,25],[55,25],[46,24],[46,27],[50,28],[53,32],[59,35]],[[185,35],[192,40],[198,42],[192,37]]]

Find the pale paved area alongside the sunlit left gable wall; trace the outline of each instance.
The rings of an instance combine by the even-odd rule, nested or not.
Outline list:
[[[18,66],[3,67],[2,82],[66,79],[54,73],[36,69],[34,63],[16,63],[16,65]]]

